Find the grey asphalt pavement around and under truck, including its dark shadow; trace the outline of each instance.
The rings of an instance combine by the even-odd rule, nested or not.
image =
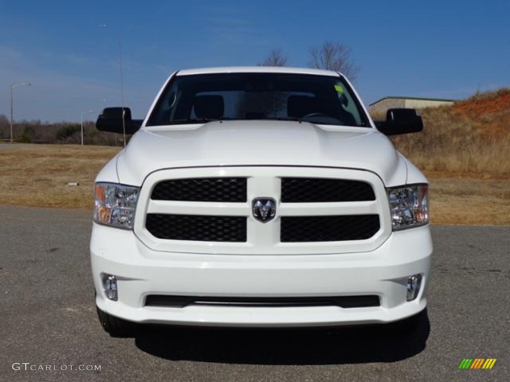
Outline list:
[[[432,227],[428,322],[408,337],[155,326],[111,338],[93,301],[91,217],[0,206],[1,381],[510,380],[510,227]],[[497,361],[458,369],[466,358]]]

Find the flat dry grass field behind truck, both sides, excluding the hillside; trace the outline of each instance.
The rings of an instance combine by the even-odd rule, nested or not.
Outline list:
[[[92,210],[95,175],[119,150],[79,145],[0,150],[0,204]],[[433,224],[510,225],[508,178],[433,171],[426,175]]]

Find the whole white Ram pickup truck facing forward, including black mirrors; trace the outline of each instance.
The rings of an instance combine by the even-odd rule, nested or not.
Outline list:
[[[337,72],[210,68],[173,73],[143,121],[109,107],[96,126],[136,132],[94,185],[110,335],[426,316],[427,179],[386,137],[420,131],[415,110],[374,122]]]

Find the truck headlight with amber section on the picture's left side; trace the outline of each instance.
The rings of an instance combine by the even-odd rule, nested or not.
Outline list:
[[[133,228],[139,187],[116,183],[94,186],[94,222],[118,228]]]

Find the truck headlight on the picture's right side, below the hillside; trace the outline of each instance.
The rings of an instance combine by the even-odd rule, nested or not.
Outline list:
[[[387,189],[394,231],[428,224],[427,190],[426,184],[409,184]]]

